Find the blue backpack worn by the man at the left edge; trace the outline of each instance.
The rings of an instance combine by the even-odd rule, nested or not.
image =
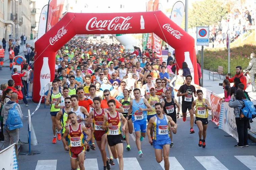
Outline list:
[[[22,128],[23,124],[21,121],[21,117],[18,111],[15,109],[17,104],[15,104],[10,110],[8,111],[8,117],[5,122],[5,126],[11,131],[17,128]]]

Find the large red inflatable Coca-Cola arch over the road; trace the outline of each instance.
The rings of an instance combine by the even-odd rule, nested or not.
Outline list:
[[[54,79],[56,51],[75,35],[151,32],[158,35],[175,49],[177,68],[182,67],[182,62],[185,61],[185,54],[190,57],[194,68],[194,80],[198,84],[194,38],[161,11],[134,13],[68,12],[51,30],[35,42],[33,101],[39,102],[41,85],[43,86],[47,81]],[[46,58],[43,66],[44,57]],[[47,58],[49,68],[47,66]]]

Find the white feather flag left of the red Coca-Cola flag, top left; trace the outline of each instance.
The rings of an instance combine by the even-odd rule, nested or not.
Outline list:
[[[40,18],[39,18],[37,39],[39,39],[46,33],[47,13],[48,13],[48,5],[45,5],[41,11]]]

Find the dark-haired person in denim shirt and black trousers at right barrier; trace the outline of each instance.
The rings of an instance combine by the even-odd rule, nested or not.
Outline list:
[[[245,105],[243,99],[245,99],[244,91],[238,89],[236,91],[236,96],[234,97],[234,95],[232,95],[228,104],[229,107],[234,108],[235,114],[235,123],[238,133],[238,143],[235,145],[235,147],[249,146],[247,131],[249,119],[240,114],[241,107]]]

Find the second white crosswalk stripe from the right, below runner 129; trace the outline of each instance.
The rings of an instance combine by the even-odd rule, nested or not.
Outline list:
[[[195,157],[200,164],[207,170],[228,170],[217,158],[214,156]]]

